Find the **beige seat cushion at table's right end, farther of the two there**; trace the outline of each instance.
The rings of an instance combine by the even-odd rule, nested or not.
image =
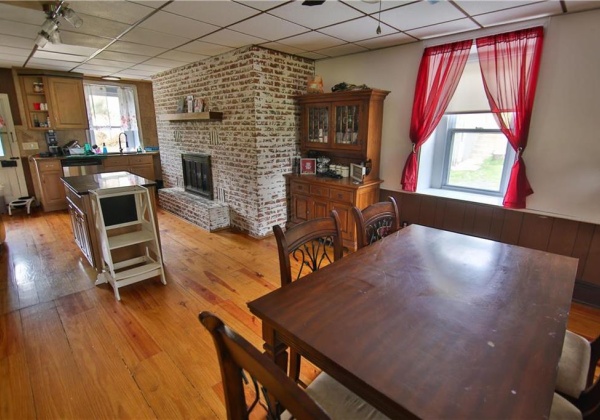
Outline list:
[[[558,362],[556,390],[573,398],[579,398],[586,388],[590,367],[591,347],[584,337],[566,332],[562,354]]]

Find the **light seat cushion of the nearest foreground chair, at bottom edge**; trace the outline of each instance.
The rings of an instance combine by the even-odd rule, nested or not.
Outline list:
[[[322,372],[306,388],[332,419],[387,419],[372,405]]]

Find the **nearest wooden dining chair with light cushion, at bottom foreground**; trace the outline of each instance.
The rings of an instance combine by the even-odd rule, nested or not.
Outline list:
[[[279,412],[280,409],[268,410],[269,419],[387,418],[324,372],[303,390],[271,359],[226,326],[216,315],[205,311],[198,318],[212,335],[217,349],[229,420],[248,419],[261,392],[263,398],[271,395],[286,410],[283,413]],[[244,393],[243,371],[250,374],[255,385],[256,397],[250,405],[247,404]],[[264,405],[268,409],[269,405],[274,404],[269,404],[267,400]]]

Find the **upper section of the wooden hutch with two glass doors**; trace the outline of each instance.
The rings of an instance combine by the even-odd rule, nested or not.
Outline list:
[[[379,177],[383,101],[389,91],[362,89],[296,97],[301,107],[300,148],[339,163],[365,163]]]

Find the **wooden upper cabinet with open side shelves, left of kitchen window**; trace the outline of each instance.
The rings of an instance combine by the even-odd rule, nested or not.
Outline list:
[[[88,128],[81,77],[19,76],[27,126],[32,130]]]

